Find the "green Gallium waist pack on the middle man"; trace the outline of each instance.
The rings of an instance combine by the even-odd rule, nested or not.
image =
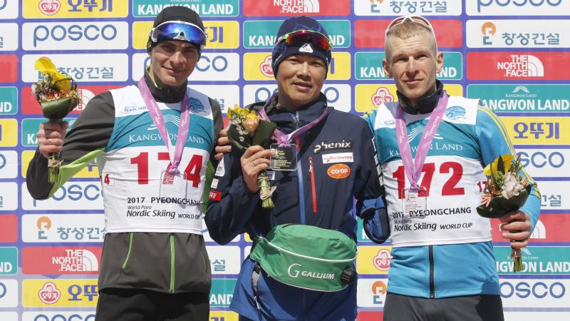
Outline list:
[[[258,237],[250,258],[286,285],[343,290],[356,279],[356,243],[344,233],[311,225],[284,224]]]

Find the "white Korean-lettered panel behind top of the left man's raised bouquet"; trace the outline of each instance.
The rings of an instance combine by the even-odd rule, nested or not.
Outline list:
[[[35,69],[36,60],[45,55],[22,56],[22,81],[38,81],[41,73]],[[50,54],[58,71],[68,73],[78,83],[127,81],[127,54]]]

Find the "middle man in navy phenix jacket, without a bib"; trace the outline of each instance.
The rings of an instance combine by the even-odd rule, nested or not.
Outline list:
[[[381,234],[370,228],[378,218],[376,209],[384,210],[371,130],[361,118],[327,106],[321,93],[331,61],[326,30],[306,16],[287,19],[272,57],[279,92],[249,108],[263,110],[276,123],[296,153],[296,169],[270,169],[269,149],[252,146],[242,153],[233,148],[219,163],[209,193],[205,220],[210,235],[225,244],[240,233],[255,238],[277,225],[296,223],[356,240],[356,215],[366,218],[371,238]],[[262,208],[259,200],[261,170],[269,171],[276,187],[271,209]],[[355,320],[356,282],[336,292],[293,287],[268,277],[248,257],[230,309],[240,320]]]

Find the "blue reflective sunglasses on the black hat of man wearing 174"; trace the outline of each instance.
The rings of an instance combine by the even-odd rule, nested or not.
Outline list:
[[[150,29],[150,34],[148,36],[152,42],[163,40],[183,40],[199,45],[200,49],[204,49],[204,46],[206,46],[206,39],[208,38],[199,26],[185,21],[163,22],[162,24],[155,26],[155,28]]]

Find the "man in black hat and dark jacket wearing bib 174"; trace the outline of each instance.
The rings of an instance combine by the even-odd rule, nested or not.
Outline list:
[[[206,39],[195,11],[167,7],[150,31],[150,68],[136,85],[92,98],[67,135],[66,123],[38,131],[26,182],[33,198],[50,198],[97,158],[106,230],[98,321],[209,320],[202,193],[222,114],[187,87]],[[54,184],[47,157],[56,152]]]

